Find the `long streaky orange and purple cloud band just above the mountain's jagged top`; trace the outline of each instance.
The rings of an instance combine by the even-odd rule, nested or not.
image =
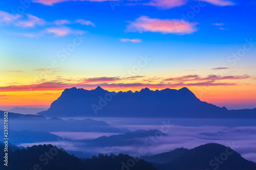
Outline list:
[[[241,80],[251,78],[248,75],[243,76],[216,76],[209,75],[207,77],[200,77],[198,75],[186,75],[176,78],[164,79],[159,82],[157,78],[152,78],[148,80],[141,81],[140,78],[143,76],[133,76],[133,77],[98,77],[98,78],[86,78],[86,79],[63,79],[61,77],[56,77],[54,80],[41,80],[41,83],[27,84],[27,85],[9,85],[6,87],[0,87],[1,91],[30,91],[30,90],[64,90],[66,88],[95,88],[97,86],[105,87],[108,89],[138,89],[138,88],[177,88],[177,87],[191,87],[191,86],[236,86],[239,83],[227,83],[218,82],[219,80]],[[131,83],[130,80],[133,80]],[[138,83],[141,82],[141,83]]]

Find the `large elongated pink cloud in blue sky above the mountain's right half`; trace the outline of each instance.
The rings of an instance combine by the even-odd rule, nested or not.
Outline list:
[[[197,22],[187,22],[181,19],[158,19],[141,16],[135,21],[129,21],[127,32],[158,32],[162,34],[191,34],[198,29]]]

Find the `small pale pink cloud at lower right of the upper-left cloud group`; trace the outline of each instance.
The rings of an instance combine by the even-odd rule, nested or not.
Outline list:
[[[53,34],[57,37],[63,37],[69,34],[84,34],[85,32],[82,30],[74,30],[69,27],[52,27],[47,28],[46,33]]]

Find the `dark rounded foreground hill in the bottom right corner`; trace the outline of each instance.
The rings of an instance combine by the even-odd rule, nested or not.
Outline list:
[[[224,145],[208,143],[191,149],[167,163],[154,163],[159,170],[254,170],[256,163],[244,159]]]

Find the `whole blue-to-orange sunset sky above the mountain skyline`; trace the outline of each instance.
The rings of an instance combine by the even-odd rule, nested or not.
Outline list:
[[[256,108],[256,2],[0,2],[0,109],[49,108],[66,88],[189,88]]]

